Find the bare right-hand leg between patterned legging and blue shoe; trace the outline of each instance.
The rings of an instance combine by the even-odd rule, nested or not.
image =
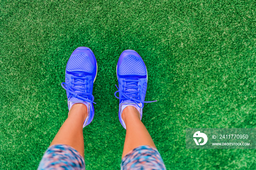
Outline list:
[[[126,125],[126,136],[122,158],[129,151],[138,146],[149,145],[155,147],[155,144],[146,127],[142,121],[140,121],[140,113],[135,107],[126,107],[123,110],[122,119]]]

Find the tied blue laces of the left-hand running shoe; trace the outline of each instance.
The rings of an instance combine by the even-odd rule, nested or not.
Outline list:
[[[88,82],[88,77],[81,77],[81,76],[72,76],[71,78],[74,78],[74,82],[70,82],[71,84],[74,84],[75,86],[82,86],[82,88],[75,88],[75,87],[69,87],[65,82],[61,83],[61,86],[67,90],[67,92],[69,92],[69,96],[70,97],[75,97],[75,98],[79,98],[80,100],[86,101],[88,103],[94,103],[94,97],[92,94],[87,93],[86,90],[88,90],[89,88],[86,87],[86,85],[89,85]],[[75,92],[75,91],[80,91],[80,92]]]

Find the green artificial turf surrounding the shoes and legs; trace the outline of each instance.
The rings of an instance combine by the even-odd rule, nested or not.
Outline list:
[[[255,150],[187,150],[185,128],[255,128],[253,0],[0,0],[0,169],[36,169],[67,118],[61,87],[79,46],[98,62],[86,169],[120,169],[116,64],[148,71],[142,121],[170,169],[256,169]]]

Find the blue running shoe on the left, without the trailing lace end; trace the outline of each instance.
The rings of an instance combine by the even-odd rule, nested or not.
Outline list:
[[[97,76],[97,61],[88,47],[78,47],[68,59],[65,82],[61,86],[67,92],[68,110],[75,103],[87,106],[88,116],[83,127],[89,125],[94,117],[93,83]]]

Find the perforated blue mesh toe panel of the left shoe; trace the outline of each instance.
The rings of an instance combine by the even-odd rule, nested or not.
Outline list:
[[[93,65],[89,62],[89,58],[84,53],[71,55],[68,63],[67,70],[83,70],[86,72],[93,72]]]

